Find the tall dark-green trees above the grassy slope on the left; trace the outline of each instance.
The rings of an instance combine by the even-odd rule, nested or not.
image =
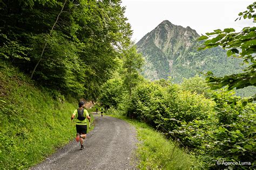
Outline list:
[[[130,45],[120,1],[1,1],[0,57],[43,86],[96,100]]]

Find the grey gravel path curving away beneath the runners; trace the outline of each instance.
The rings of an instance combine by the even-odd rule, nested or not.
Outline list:
[[[117,118],[95,116],[84,150],[74,140],[31,169],[134,169],[136,130]],[[131,161],[132,160],[132,161]]]

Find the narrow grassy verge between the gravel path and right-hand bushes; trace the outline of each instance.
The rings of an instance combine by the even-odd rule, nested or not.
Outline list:
[[[147,124],[124,116],[110,115],[129,122],[136,127],[138,133],[139,169],[191,169],[199,168],[199,162],[181,148],[175,146],[162,134]]]

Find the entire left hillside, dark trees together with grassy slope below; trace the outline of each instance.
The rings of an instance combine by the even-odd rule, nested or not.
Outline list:
[[[0,169],[29,168],[74,138],[132,34],[120,1],[0,1]]]

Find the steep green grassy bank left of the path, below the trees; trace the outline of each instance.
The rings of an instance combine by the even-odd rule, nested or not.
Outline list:
[[[76,100],[53,99],[3,61],[0,85],[0,169],[29,168],[75,139]]]

